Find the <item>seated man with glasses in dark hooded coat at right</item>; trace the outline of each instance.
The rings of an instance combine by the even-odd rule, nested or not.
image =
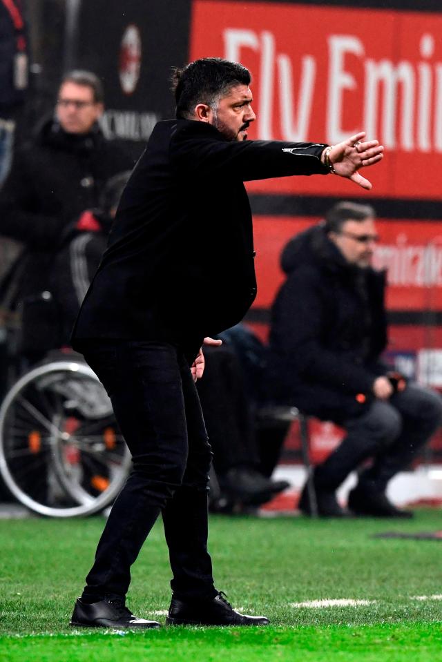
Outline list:
[[[380,356],[387,344],[385,273],[370,266],[378,239],[374,210],[340,202],[282,253],[287,281],[273,304],[273,369],[305,412],[333,420],[347,436],[314,472],[318,512],[343,516],[335,491],[364,460],[349,494],[357,515],[410,516],[385,495],[441,422],[441,398],[393,380]],[[311,514],[305,488],[300,509]]]

